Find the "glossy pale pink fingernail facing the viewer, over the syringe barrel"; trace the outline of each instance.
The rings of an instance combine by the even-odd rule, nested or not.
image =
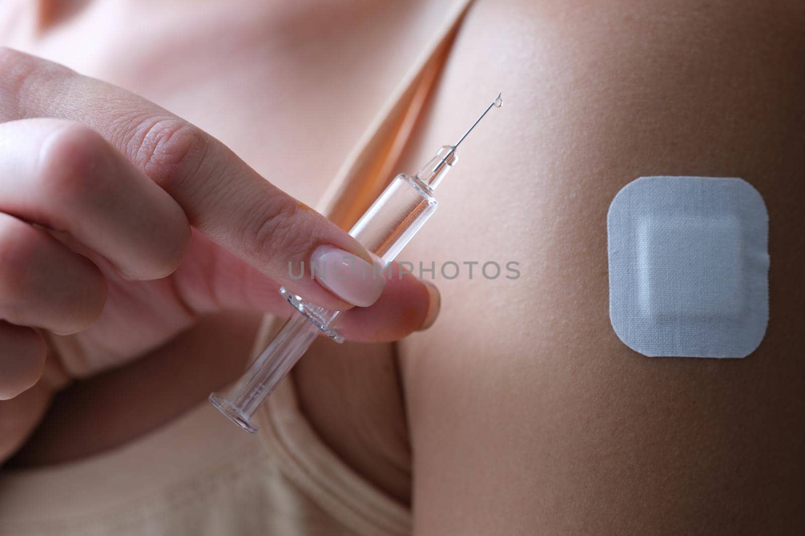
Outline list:
[[[321,286],[358,307],[374,304],[386,286],[386,278],[379,269],[335,246],[319,246],[313,250],[310,263],[313,276]]]

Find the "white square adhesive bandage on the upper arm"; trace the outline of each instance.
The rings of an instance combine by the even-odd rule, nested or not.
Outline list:
[[[648,356],[743,358],[769,321],[769,216],[740,178],[642,177],[607,216],[609,319]]]

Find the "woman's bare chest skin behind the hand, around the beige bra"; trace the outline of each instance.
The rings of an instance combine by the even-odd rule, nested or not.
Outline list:
[[[431,16],[435,10],[425,2],[359,0],[9,2],[0,7],[0,44],[64,63],[154,101],[213,134],[270,182],[315,206],[414,62],[419,43],[441,23]],[[57,396],[15,463],[97,454],[181,415],[220,387],[222,378],[229,382],[237,377],[260,317],[238,313],[206,318],[203,328],[190,329],[145,358],[68,388]],[[217,344],[221,341],[229,341],[236,355],[222,356],[221,348],[227,346]],[[321,374],[316,366],[317,354],[332,355],[326,344],[314,346],[309,352],[313,357],[295,374],[300,404],[336,453],[405,499],[408,474],[398,467],[407,466],[408,449],[394,354],[389,345],[346,348],[346,354],[377,366],[361,367],[360,377],[352,380],[357,388],[349,395],[357,400],[338,407],[359,411],[366,407],[361,393],[367,393],[373,408],[369,421],[379,428],[373,425],[377,429],[371,434],[353,433],[350,411],[322,410],[332,407],[333,397],[343,398],[328,391],[331,372]],[[183,357],[191,349],[192,363]],[[143,383],[149,391],[175,393],[177,384],[188,383],[191,366],[204,370],[193,375],[191,386],[154,407],[142,407],[134,422],[119,425],[126,412],[121,399],[142,391]],[[373,388],[367,391],[364,385]],[[105,411],[91,409],[95,407]],[[118,425],[111,434],[75,433],[104,428],[105,423]],[[394,470],[389,473],[378,466],[388,465],[390,451]]]

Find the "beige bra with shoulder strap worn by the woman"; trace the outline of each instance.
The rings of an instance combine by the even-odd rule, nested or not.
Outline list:
[[[393,176],[403,146],[472,0],[453,2],[440,31],[386,101],[317,209],[348,229]],[[276,321],[266,315],[262,350]],[[411,534],[411,513],[325,445],[283,381],[237,429],[208,403],[99,456],[0,472],[0,535]]]

